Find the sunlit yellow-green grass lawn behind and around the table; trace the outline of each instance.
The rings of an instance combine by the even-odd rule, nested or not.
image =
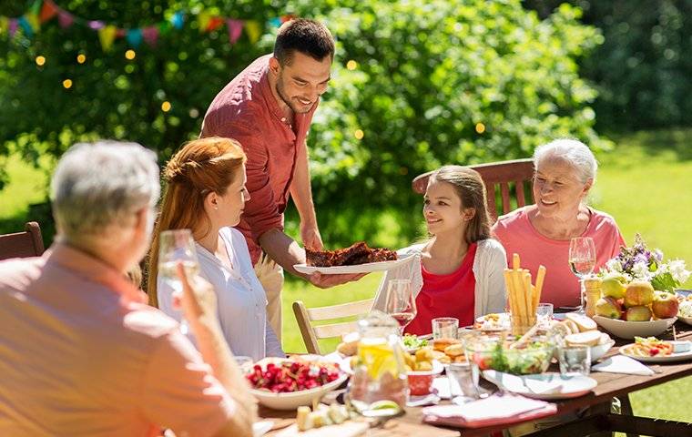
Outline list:
[[[640,232],[667,258],[686,259],[692,267],[692,130],[639,132],[614,139],[616,150],[599,157],[601,168],[591,193],[592,205],[616,218],[627,242]],[[0,191],[0,221],[21,223],[26,205],[44,198],[41,188],[46,177],[18,158],[10,158],[8,164],[11,182]],[[283,291],[284,350],[305,351],[290,307],[294,300],[303,300],[310,308],[368,299],[381,277],[371,274],[330,290],[290,280]],[[687,288],[692,288],[692,281]],[[333,351],[337,343],[321,342],[322,351]],[[635,413],[692,422],[692,410],[687,407],[692,401],[689,393],[692,378],[637,391],[632,394]]]

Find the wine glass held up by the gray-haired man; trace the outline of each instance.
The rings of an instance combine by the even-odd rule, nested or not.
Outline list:
[[[173,290],[182,293],[183,284],[178,277],[178,263],[182,263],[188,279],[199,274],[199,261],[195,240],[189,229],[164,230],[158,237],[158,278]],[[180,318],[180,331],[188,335],[188,322]]]

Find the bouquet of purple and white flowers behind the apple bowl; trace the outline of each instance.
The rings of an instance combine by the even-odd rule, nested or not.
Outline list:
[[[649,250],[641,235],[636,234],[635,243],[630,248],[623,247],[614,259],[605,263],[599,276],[621,276],[626,282],[642,280],[650,282],[654,290],[675,292],[687,279],[690,272],[685,261],[673,259],[663,261],[663,252]]]

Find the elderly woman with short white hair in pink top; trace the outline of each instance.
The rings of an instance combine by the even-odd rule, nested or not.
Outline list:
[[[494,235],[508,258],[518,253],[522,267],[534,276],[539,265],[545,266],[541,300],[556,307],[576,306],[580,286],[569,268],[570,240],[594,239],[595,270],[615,257],[625,240],[615,219],[585,204],[598,168],[589,147],[574,139],[536,147],[534,168],[534,205],[498,218]]]

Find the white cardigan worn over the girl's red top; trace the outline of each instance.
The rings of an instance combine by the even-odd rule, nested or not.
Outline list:
[[[400,257],[410,256],[411,260],[396,269],[387,271],[380,282],[372,303],[372,310],[384,309],[387,284],[391,279],[411,279],[413,294],[418,296],[422,289],[421,251],[425,244],[414,244],[397,250]],[[507,256],[503,245],[495,239],[483,239],[476,244],[478,248],[473,259],[473,276],[475,277],[473,317],[480,317],[491,312],[503,312],[506,293],[504,269],[507,267]]]

